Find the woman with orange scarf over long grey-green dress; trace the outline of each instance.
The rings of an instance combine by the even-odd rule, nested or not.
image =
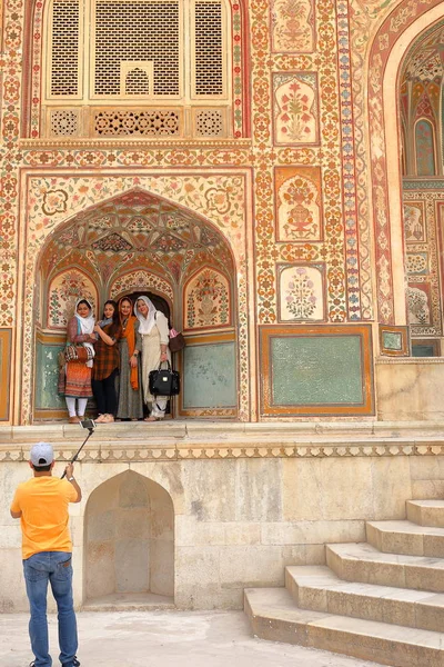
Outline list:
[[[142,384],[140,374],[140,359],[142,338],[139,334],[139,320],[132,315],[132,301],[122,297],[119,301],[119,317],[121,337],[120,351],[120,382],[118,419],[143,418]]]

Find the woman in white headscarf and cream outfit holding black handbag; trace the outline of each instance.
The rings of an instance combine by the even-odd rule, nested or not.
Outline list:
[[[168,360],[171,364],[168,319],[163,312],[155,310],[154,303],[148,297],[139,297],[135,301],[134,315],[140,322],[139,334],[142,336],[143,399],[150,411],[145,421],[158,421],[165,415],[168,398],[158,396],[154,399],[150,394],[148,378],[150,371],[158,369],[161,361]]]

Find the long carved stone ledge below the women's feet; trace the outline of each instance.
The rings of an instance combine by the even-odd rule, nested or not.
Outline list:
[[[48,440],[57,460],[70,460],[87,431],[65,424],[0,427],[0,462],[28,459],[32,442]],[[433,422],[244,424],[118,422],[98,426],[79,457],[84,462],[442,456],[444,430]]]

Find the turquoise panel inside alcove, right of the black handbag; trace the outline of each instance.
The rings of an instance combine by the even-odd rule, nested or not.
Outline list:
[[[186,346],[183,369],[185,409],[238,405],[234,342]]]

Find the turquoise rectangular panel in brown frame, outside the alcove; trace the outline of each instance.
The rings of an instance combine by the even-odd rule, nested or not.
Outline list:
[[[271,339],[272,404],[362,405],[360,336]]]

